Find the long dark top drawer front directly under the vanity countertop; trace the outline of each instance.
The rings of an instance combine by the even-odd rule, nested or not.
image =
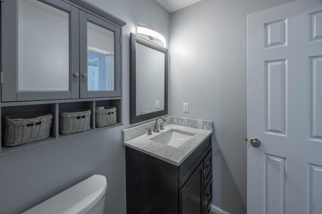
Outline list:
[[[179,188],[192,175],[199,163],[204,159],[208,151],[211,149],[211,136],[209,136],[189,157],[179,166],[178,178]]]

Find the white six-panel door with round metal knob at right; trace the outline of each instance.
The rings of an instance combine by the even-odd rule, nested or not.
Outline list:
[[[321,214],[321,0],[248,16],[247,135],[248,213]]]

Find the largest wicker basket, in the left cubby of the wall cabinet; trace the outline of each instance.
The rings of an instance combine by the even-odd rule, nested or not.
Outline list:
[[[5,116],[5,145],[18,146],[49,137],[51,113],[27,113]]]

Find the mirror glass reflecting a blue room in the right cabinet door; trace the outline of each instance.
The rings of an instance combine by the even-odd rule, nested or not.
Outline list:
[[[88,22],[88,90],[114,90],[114,33]]]

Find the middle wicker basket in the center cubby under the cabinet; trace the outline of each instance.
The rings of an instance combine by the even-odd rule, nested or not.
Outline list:
[[[89,109],[71,109],[59,111],[59,130],[61,134],[73,134],[91,128]]]

